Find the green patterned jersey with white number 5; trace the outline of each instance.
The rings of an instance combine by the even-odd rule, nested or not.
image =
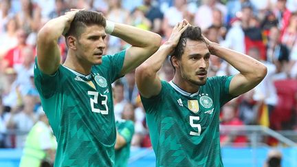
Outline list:
[[[211,77],[197,93],[162,81],[159,95],[142,97],[156,166],[223,166],[220,108],[231,100],[232,76]]]

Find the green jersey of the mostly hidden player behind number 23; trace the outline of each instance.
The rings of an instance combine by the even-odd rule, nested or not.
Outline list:
[[[130,156],[131,140],[134,134],[134,123],[131,120],[118,120],[115,122],[115,126],[118,129],[118,133],[120,133],[120,135],[124,137],[124,140],[126,140],[126,145],[115,150],[115,166],[124,167],[127,166]]]

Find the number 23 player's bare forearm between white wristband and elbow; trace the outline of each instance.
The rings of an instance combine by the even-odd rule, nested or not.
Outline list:
[[[126,41],[126,43],[136,47],[158,47],[160,42],[158,34],[121,23],[115,23],[111,35],[117,36]]]

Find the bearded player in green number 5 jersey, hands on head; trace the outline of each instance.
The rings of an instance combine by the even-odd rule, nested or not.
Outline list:
[[[173,80],[157,71],[171,55]],[[234,76],[207,78],[210,55],[239,70]],[[201,36],[187,21],[175,25],[168,41],[135,72],[156,166],[223,166],[219,144],[220,108],[265,77],[266,67],[250,56]]]

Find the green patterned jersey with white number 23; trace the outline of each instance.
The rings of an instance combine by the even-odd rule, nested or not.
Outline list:
[[[58,143],[54,166],[113,166],[115,119],[111,83],[119,78],[125,51],[102,56],[83,76],[63,65],[53,76],[35,60],[34,81]],[[94,83],[96,89],[87,81]]]

